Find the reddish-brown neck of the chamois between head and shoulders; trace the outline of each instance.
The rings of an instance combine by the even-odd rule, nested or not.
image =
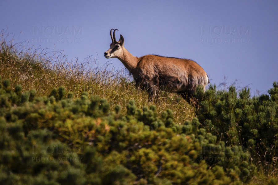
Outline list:
[[[133,70],[135,70],[139,61],[138,57],[133,56],[124,47],[123,47],[122,55],[117,58],[124,64],[124,67],[126,67],[130,72],[133,72]]]

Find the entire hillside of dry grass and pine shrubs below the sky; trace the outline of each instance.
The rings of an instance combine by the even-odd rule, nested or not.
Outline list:
[[[276,82],[253,98],[199,89],[196,109],[30,51],[1,41],[1,184],[277,184]]]

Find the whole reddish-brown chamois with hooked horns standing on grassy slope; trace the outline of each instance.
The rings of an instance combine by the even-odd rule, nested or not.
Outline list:
[[[114,30],[113,36],[112,30]],[[199,64],[193,60],[159,55],[133,56],[124,48],[122,35],[120,35],[120,40],[116,41],[116,30],[110,31],[112,43],[104,56],[107,59],[119,59],[133,75],[136,85],[147,89],[150,100],[153,100],[156,92],[161,90],[180,94],[187,102],[190,102],[197,85],[203,85],[205,90],[209,79]]]

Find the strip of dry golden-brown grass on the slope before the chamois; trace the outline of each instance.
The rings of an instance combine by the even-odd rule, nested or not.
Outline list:
[[[36,89],[38,96],[48,96],[53,88],[64,86],[67,92],[80,97],[83,91],[97,94],[111,103],[125,107],[130,99],[138,108],[155,104],[158,113],[171,109],[177,124],[195,117],[195,107],[179,95],[160,92],[154,102],[148,100],[145,90],[136,87],[125,69],[108,70],[108,65],[99,65],[99,59],[87,58],[80,64],[68,61],[62,52],[47,52],[42,49],[24,48],[24,43],[6,42],[1,32],[0,75],[10,79],[11,84],[20,84],[23,90]],[[6,34],[7,35],[7,34]]]

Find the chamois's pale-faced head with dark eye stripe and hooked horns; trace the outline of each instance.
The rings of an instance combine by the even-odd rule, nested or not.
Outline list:
[[[114,30],[114,29],[110,30],[110,36],[111,36],[111,40],[112,40],[112,43],[110,44],[110,49],[108,49],[104,53],[104,56],[107,59],[117,58],[118,56],[122,55],[122,51],[123,51],[123,47],[124,47],[124,37],[121,35],[120,40],[117,41],[116,37],[115,37],[115,31],[117,29],[114,30],[113,36],[112,36],[112,30]]]

